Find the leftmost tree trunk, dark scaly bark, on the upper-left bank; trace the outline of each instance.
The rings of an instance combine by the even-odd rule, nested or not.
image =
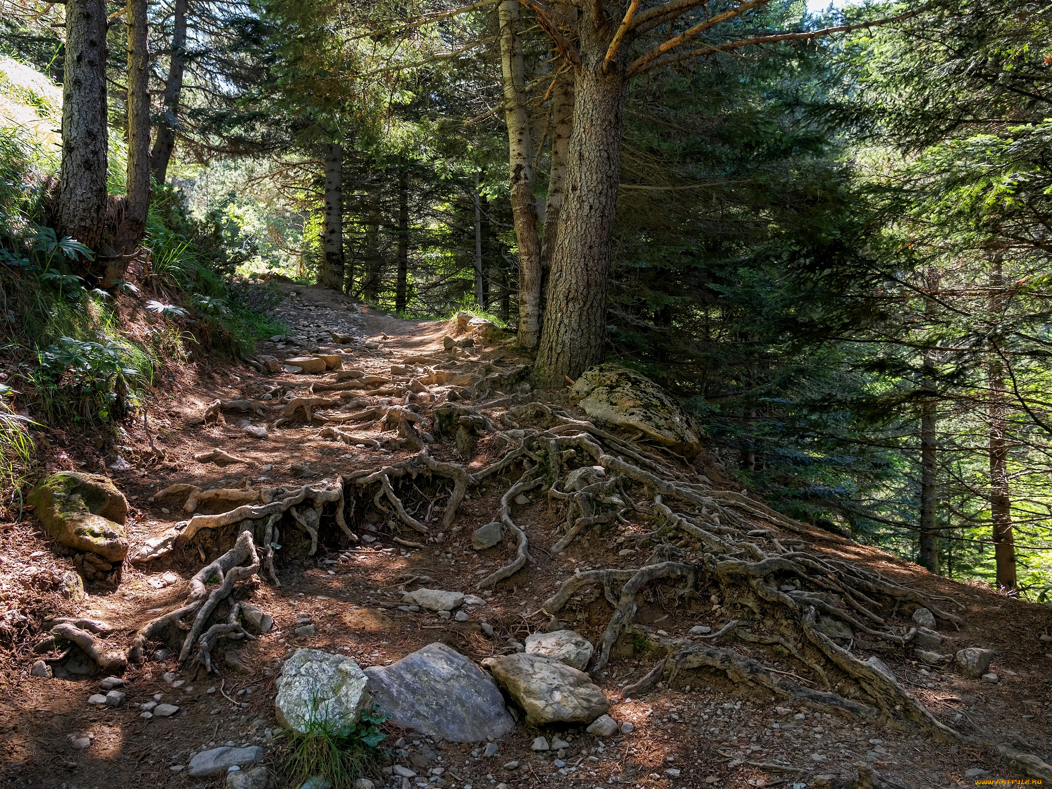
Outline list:
[[[98,250],[106,217],[106,3],[66,3],[58,226]]]

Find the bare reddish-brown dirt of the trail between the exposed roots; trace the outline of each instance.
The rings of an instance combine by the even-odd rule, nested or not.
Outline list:
[[[403,321],[355,305],[330,290],[283,287],[290,297],[277,311],[297,340],[263,343],[261,355],[284,359],[300,350],[342,349],[344,367],[389,378],[391,366],[407,357],[446,353],[443,338],[451,326],[444,322]],[[328,330],[353,341],[333,345]],[[458,352],[462,359],[478,359],[497,367],[521,361],[503,345]],[[272,402],[261,399],[277,386],[305,393],[319,379],[288,372],[263,375],[240,365],[200,370],[193,377],[190,368],[186,371],[183,380],[174,382],[167,403],[155,404],[151,409],[151,427],[157,430],[154,438],[164,453],[163,461],[148,451],[149,437],[137,426],[128,431],[124,445],[132,468],[112,472],[134,507],[129,521],[133,552],[187,518],[178,504],[150,500],[168,485],[188,483],[202,489],[291,487],[335,479],[336,474],[347,478],[412,454],[408,449],[386,451],[325,440],[317,424],[302,421],[276,429],[274,413],[261,419],[227,412],[217,422],[202,424],[201,414],[217,399]],[[515,402],[504,397],[510,393],[493,392],[488,398],[503,405],[487,407],[483,401],[476,407],[499,420],[507,412],[508,403]],[[560,403],[567,412],[582,416],[565,403],[562,392],[532,392],[523,402],[529,399]],[[267,427],[265,439],[252,438],[245,430],[246,426],[261,425]],[[368,434],[389,442],[393,433],[383,433],[381,427],[375,424]],[[488,436],[478,441],[470,459],[460,457],[448,442],[444,449],[440,444],[432,445],[434,452],[460,460],[471,472],[505,450],[504,444]],[[246,462],[220,467],[194,460],[214,448]],[[56,457],[59,460],[54,467],[98,470],[98,458],[89,447],[69,446]],[[719,481],[719,468],[699,467],[690,472],[700,470]],[[420,549],[393,542],[393,537],[408,542],[422,538],[405,528],[392,528],[390,521],[384,522],[389,515],[377,518],[375,511],[351,519],[351,529],[361,541],[357,545],[341,538],[339,530],[331,530],[322,535],[313,557],[307,554],[309,540],[290,529],[278,551],[281,587],[260,579],[252,581],[252,603],[274,616],[275,630],[247,644],[224,645],[217,650],[218,672],[210,675],[191,664],[180,667],[176,655],[155,654],[154,645],[145,663],[133,665],[124,673],[127,700],[123,707],[88,706],[87,697],[98,691],[102,675],[78,673],[90,669],[76,661],[56,664],[55,679],[28,676],[37,655],[21,650],[0,676],[0,777],[5,785],[62,789],[218,787],[221,778],[191,778],[185,765],[193,752],[224,744],[264,745],[268,763],[277,768],[276,751],[270,747],[277,726],[274,682],[281,662],[295,647],[340,650],[364,667],[387,665],[441,641],[480,661],[509,651],[509,639],[521,642],[527,634],[545,629],[547,618],[531,614],[567,576],[589,569],[638,566],[641,561],[631,553],[626,555],[624,541],[610,539],[609,533],[583,533],[564,552],[552,555],[547,549],[559,540],[563,515],[549,511],[543,495],[532,494],[528,503],[517,508],[514,517],[529,534],[534,564],[498,584],[486,599],[487,605],[467,622],[407,610],[401,590],[408,578],[426,576],[430,588],[474,592],[479,579],[511,561],[515,554],[512,540],[484,551],[474,551],[469,544],[472,530],[498,515],[506,489],[505,484],[471,490],[458,509],[456,526],[441,540],[436,539],[441,506],[437,499],[428,506],[429,498],[424,495],[419,507],[413,505],[418,518],[424,520],[425,510],[430,518],[429,535]],[[772,537],[802,541],[797,550],[877,570],[931,595],[959,615],[964,621],[959,630],[940,623],[946,641],[939,651],[969,646],[996,649],[999,654],[991,670],[999,676],[997,684],[966,679],[948,667],[926,668],[912,652],[893,645],[851,647],[864,650],[862,659],[878,655],[907,690],[946,724],[967,724],[970,731],[990,732],[998,742],[1014,743],[1014,747],[1046,761],[1052,758],[1052,644],[1040,641],[1041,633],[1050,631],[1052,611],[978,586],[933,578],[915,565],[825,531],[807,527],[795,534],[769,520],[750,520]],[[132,633],[159,611],[175,606],[185,592],[183,580],[205,560],[228,549],[232,534],[234,530],[203,532],[200,540],[161,559],[127,567],[116,589],[90,588],[78,615],[103,620],[117,633]],[[0,531],[0,599],[8,601],[6,605],[16,611],[16,618],[19,579],[33,575],[27,568],[36,567],[39,573],[70,566],[50,548],[49,541],[34,530],[32,521]],[[41,600],[37,609],[27,611],[31,615],[42,618],[47,613],[47,601],[55,599]],[[655,640],[644,644],[663,639],[685,643],[690,628],[703,625],[716,630],[730,619],[721,603],[730,605],[707,598],[676,604],[661,589],[652,589],[641,595],[635,622]],[[560,615],[565,626],[598,645],[610,612],[610,605],[600,594],[598,600],[571,606]],[[316,632],[296,638],[297,622],[304,615],[310,618]],[[484,624],[494,628],[492,636]],[[907,625],[908,619],[897,611],[888,622],[902,632]],[[221,656],[225,649],[236,655],[230,664]],[[747,644],[735,649],[757,660],[762,656]],[[668,686],[662,683],[639,699],[626,697],[623,688],[639,681],[660,656],[660,652],[640,652],[629,643],[628,648],[615,649],[610,662],[593,672],[594,682],[614,702],[610,714],[620,723],[632,724],[624,727],[631,728],[628,733],[596,739],[581,727],[564,727],[555,731],[566,741],[566,748],[535,752],[531,742],[541,732],[520,725],[489,758],[474,745],[437,742],[390,726],[388,744],[399,749],[394,754],[399,761],[414,766],[420,776],[442,767],[441,776],[432,776],[430,785],[452,789],[468,785],[473,789],[598,784],[662,789],[834,786],[837,781],[857,776],[859,764],[869,764],[888,781],[910,789],[971,786],[984,775],[1017,775],[998,763],[990,746],[937,743],[908,728],[776,700],[754,687],[732,684],[717,672],[685,671]],[[236,663],[240,665],[231,665]],[[809,680],[794,673],[798,666],[787,663],[778,672],[808,685]],[[166,719],[141,717],[139,705],[151,700],[178,705],[180,711]],[[552,730],[543,733],[550,735]],[[85,742],[87,747],[79,747]],[[518,762],[519,767],[504,769],[511,762]],[[401,787],[402,783],[391,778],[389,785]]]

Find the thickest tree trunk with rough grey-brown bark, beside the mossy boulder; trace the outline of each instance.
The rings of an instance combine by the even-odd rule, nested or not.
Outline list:
[[[623,45],[603,72],[609,33],[596,31],[591,4],[581,13],[581,68],[573,103],[565,199],[551,256],[548,304],[534,367],[539,383],[562,386],[602,361],[606,287],[621,175],[625,115]]]

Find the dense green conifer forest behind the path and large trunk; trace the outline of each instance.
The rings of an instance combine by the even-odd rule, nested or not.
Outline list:
[[[123,409],[179,332],[106,340],[113,287],[77,268],[95,247],[50,229],[68,7],[0,6],[0,353],[15,370],[0,394],[13,414],[32,396],[35,414],[46,400],[53,419],[92,421],[62,377],[108,359],[101,388],[78,381],[100,402],[127,381]],[[680,396],[710,450],[792,515],[1046,599],[1048,8],[728,7],[724,43],[712,22],[689,59],[654,56],[628,83],[607,359]],[[130,196],[129,12],[106,8],[107,190]],[[247,282],[282,275],[522,332],[522,261],[550,260],[564,197],[574,83],[550,28],[572,4],[143,8],[159,313],[237,353],[278,329]],[[25,106],[37,117],[11,109]],[[36,306],[11,306],[38,285]]]

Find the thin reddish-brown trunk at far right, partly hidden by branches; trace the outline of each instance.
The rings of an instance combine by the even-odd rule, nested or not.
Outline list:
[[[990,315],[1003,311],[1004,289],[1002,258],[994,256],[990,266]],[[1015,538],[1012,532],[1012,501],[1008,484],[1007,401],[1005,367],[997,349],[990,355],[989,367],[990,418],[990,518],[993,521],[994,561],[997,565],[997,587],[1017,591],[1015,578]]]

